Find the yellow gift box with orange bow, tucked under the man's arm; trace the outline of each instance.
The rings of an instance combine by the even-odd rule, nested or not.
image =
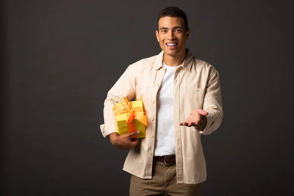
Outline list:
[[[132,138],[146,137],[147,118],[144,115],[143,101],[128,101],[123,98],[120,103],[115,104],[118,133],[120,135],[140,130],[140,133]]]

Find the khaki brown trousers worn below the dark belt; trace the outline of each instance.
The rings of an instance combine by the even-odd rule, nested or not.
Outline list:
[[[175,164],[153,162],[152,179],[131,175],[130,196],[201,196],[201,183],[177,184]]]

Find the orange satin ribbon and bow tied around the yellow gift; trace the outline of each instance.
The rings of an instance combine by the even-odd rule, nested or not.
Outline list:
[[[126,123],[130,133],[133,131],[136,131],[136,126],[133,121],[134,118],[136,118],[138,121],[140,121],[141,123],[147,126],[147,118],[144,114],[141,113],[141,112],[144,112],[143,107],[133,108],[132,102],[129,102],[125,97],[122,99],[121,104],[122,105],[115,105],[112,111],[116,110],[117,115],[127,113]],[[134,137],[134,138],[137,138],[137,137]]]

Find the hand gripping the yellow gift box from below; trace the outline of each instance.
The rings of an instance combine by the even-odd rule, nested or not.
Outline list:
[[[114,132],[109,135],[109,139],[113,146],[122,150],[130,150],[139,142],[138,138],[132,139],[132,137],[138,135],[139,133],[140,131],[134,131],[132,133],[119,135],[117,132]]]

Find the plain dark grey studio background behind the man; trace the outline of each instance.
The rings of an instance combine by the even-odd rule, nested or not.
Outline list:
[[[158,54],[158,12],[188,16],[221,75],[224,119],[202,137],[203,196],[294,194],[293,10],[269,0],[6,0],[1,23],[5,196],[127,196],[127,152],[99,130],[107,91]]]

